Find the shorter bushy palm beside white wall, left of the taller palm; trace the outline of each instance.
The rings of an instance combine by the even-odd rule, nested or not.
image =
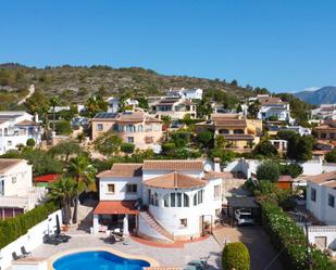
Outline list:
[[[63,210],[63,223],[70,224],[71,201],[76,194],[76,182],[71,177],[62,177],[59,181],[49,185],[48,196],[58,201]]]

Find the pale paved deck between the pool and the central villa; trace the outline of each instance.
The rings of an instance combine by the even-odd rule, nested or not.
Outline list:
[[[158,247],[141,244],[133,239],[129,239],[128,245],[121,242],[111,243],[110,239],[104,234],[90,235],[90,234],[72,234],[69,243],[60,245],[42,244],[33,250],[34,257],[49,258],[58,253],[71,249],[82,248],[113,248],[121,253],[128,255],[146,256],[154,259],[162,267],[185,267],[188,261],[199,259],[210,255],[208,260],[208,269],[221,270],[221,254],[222,246],[215,241],[213,236],[204,239],[195,243],[186,243],[183,247]]]

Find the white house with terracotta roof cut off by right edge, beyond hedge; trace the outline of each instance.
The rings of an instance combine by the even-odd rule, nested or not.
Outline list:
[[[336,226],[336,171],[307,179],[307,209],[321,222]]]

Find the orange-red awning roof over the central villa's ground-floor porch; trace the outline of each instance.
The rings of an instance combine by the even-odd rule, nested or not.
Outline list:
[[[136,201],[100,201],[94,210],[97,215],[139,215]]]

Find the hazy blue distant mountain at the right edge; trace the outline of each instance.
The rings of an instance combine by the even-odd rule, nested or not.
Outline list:
[[[294,95],[312,105],[332,104],[336,103],[336,87],[322,87],[315,91],[302,91]]]

